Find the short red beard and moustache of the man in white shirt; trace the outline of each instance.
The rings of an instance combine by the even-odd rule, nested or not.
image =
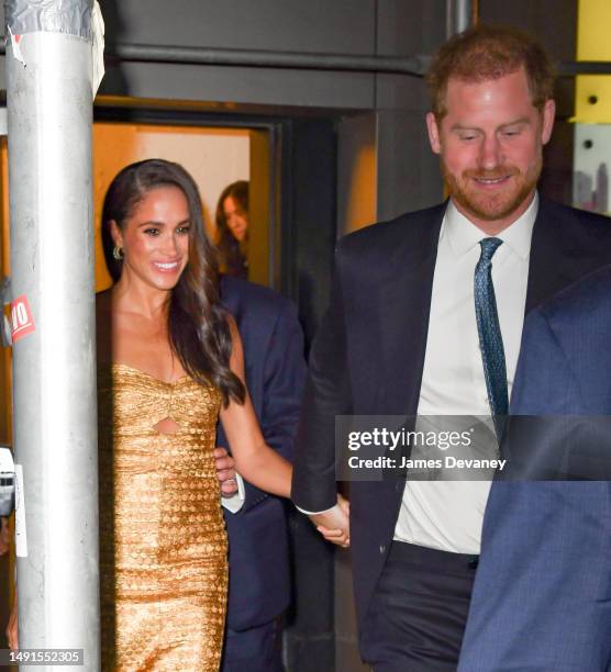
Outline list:
[[[493,222],[503,220],[516,211],[536,187],[541,175],[542,160],[536,159],[529,170],[521,172],[515,166],[504,166],[495,170],[465,170],[459,178],[452,175],[441,159],[442,175],[448,194],[467,214],[478,220]],[[474,179],[495,180],[509,177],[497,193],[478,190]]]

